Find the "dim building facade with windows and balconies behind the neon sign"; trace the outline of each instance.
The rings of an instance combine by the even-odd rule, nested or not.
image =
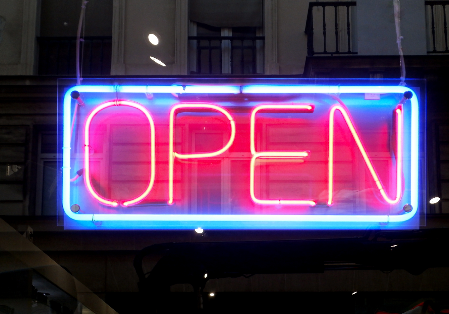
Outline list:
[[[449,226],[446,4],[449,1],[400,3],[405,77],[427,80],[423,91],[427,95],[427,197],[440,198],[427,204],[423,229]],[[84,5],[81,75],[85,78],[243,75],[326,80],[402,74],[392,0],[90,0]],[[56,216],[57,160],[62,158],[57,146],[57,79],[75,77],[80,12],[78,0],[1,1],[0,215],[19,232],[30,227],[34,244],[93,292],[126,308],[125,301],[117,300],[137,299],[132,259],[153,244],[365,234],[214,231],[203,237],[193,231],[64,231]],[[157,45],[150,42],[149,34],[155,35]],[[147,261],[145,267],[150,269],[156,261]],[[211,280],[205,289],[409,292],[418,298],[420,292],[447,292],[448,278],[447,267],[429,268],[416,276],[404,270],[391,275],[348,270],[225,278]],[[193,290],[178,284],[172,291]],[[367,296],[365,305],[370,298],[376,297]]]

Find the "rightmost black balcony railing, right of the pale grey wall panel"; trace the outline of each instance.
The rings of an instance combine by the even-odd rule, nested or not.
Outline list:
[[[449,0],[424,1],[424,4],[427,19],[427,53],[449,53],[446,21],[446,5],[449,5]]]

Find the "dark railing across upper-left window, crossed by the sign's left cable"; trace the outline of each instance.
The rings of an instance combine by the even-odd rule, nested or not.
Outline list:
[[[76,37],[38,37],[38,74],[76,74]],[[83,47],[84,45],[84,47]],[[110,74],[112,37],[84,37],[82,74]]]

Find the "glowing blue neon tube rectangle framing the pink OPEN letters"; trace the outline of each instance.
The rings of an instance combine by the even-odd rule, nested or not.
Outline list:
[[[191,215],[191,214],[79,214],[70,210],[70,93],[207,93],[207,94],[344,94],[344,93],[398,93],[410,91],[411,102],[411,205],[412,211],[403,215]],[[105,222],[148,222],[147,228],[189,229],[209,225],[213,229],[295,228],[295,224],[310,223],[401,223],[418,212],[418,154],[419,154],[419,108],[415,92],[405,86],[310,86],[310,85],[249,85],[249,86],[113,86],[81,85],[68,89],[63,99],[63,159],[62,159],[62,207],[70,219]],[[205,225],[206,224],[206,225]],[[293,225],[292,225],[293,224]],[[112,224],[116,225],[116,224]],[[111,225],[112,228],[114,228]],[[165,226],[164,226],[165,225]],[[130,226],[131,227],[131,226]],[[307,228],[306,226],[302,226]],[[323,226],[326,228],[325,226]],[[361,225],[362,227],[362,225]],[[296,226],[298,228],[298,226]],[[315,227],[317,228],[317,227]],[[328,227],[333,228],[333,227]]]

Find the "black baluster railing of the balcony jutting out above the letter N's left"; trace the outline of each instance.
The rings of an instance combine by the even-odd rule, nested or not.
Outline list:
[[[357,54],[354,49],[351,49],[351,19],[352,10],[351,7],[357,5],[356,1],[332,1],[332,2],[310,2],[307,13],[306,28],[304,32],[307,34],[307,54],[313,55],[342,55],[342,54]],[[332,10],[333,7],[333,10]],[[316,9],[314,9],[316,8]],[[326,17],[326,8],[328,12],[333,14]],[[320,14],[320,9],[322,13]],[[333,12],[332,12],[333,11]],[[315,14],[315,20],[319,24],[323,25],[322,37],[321,34],[314,34],[313,18]],[[326,38],[326,22],[330,22],[335,27],[335,46],[332,39]],[[333,22],[333,23],[332,23]],[[346,22],[346,23],[344,23]],[[345,25],[346,24],[346,25]],[[328,25],[328,24],[327,24]],[[345,34],[346,33],[346,34]],[[321,38],[320,38],[321,37]],[[319,40],[317,43],[314,39]],[[315,44],[315,46],[314,46]],[[328,48],[332,50],[329,50]],[[335,50],[333,50],[335,47]],[[317,52],[316,49],[322,48],[322,51]],[[346,48],[348,48],[346,50]]]

